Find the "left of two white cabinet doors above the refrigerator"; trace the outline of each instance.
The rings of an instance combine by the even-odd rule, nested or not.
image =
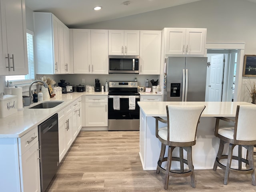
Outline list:
[[[165,54],[186,54],[185,53],[186,28],[166,29],[166,53]]]

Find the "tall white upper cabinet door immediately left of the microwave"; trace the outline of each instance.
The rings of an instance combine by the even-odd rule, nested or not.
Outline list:
[[[91,30],[93,74],[108,74],[108,30]]]

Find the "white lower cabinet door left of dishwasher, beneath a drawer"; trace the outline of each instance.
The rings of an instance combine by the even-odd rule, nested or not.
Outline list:
[[[38,141],[20,156],[22,192],[40,192],[40,166]]]

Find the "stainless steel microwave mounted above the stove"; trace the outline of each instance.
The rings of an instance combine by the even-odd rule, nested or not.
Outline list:
[[[139,73],[139,56],[108,56],[108,73]]]

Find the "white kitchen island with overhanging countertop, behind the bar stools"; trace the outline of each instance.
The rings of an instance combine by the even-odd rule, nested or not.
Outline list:
[[[140,159],[143,170],[156,170],[161,142],[155,136],[154,116],[166,118],[166,105],[206,106],[198,124],[196,145],[192,146],[192,158],[194,169],[212,169],[219,147],[219,139],[214,136],[216,121],[214,117],[234,118],[236,106],[252,104],[247,102],[138,102],[138,105],[140,106]],[[159,128],[164,126],[166,124],[159,123]],[[178,149],[174,150],[174,155],[178,155]],[[236,150],[234,150],[234,155],[236,155]],[[245,157],[244,151],[242,155]],[[186,158],[186,154],[184,157]],[[173,162],[172,168],[176,167],[179,167],[178,162]]]

